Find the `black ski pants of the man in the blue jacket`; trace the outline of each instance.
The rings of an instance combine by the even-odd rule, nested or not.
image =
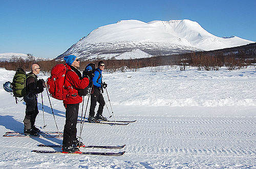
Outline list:
[[[99,103],[97,115],[102,115],[105,101],[104,101],[104,98],[103,98],[102,93],[100,92],[99,88],[93,86],[92,90],[93,90],[93,93],[91,94],[91,106],[90,106],[89,116],[94,117],[94,115],[95,115],[94,110],[95,110],[97,102]]]

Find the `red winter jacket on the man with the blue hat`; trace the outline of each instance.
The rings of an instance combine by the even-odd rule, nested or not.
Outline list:
[[[79,79],[78,75],[67,65],[65,88],[68,89],[68,96],[66,100],[63,100],[64,104],[76,104],[82,102],[82,97],[78,95],[77,89],[84,89],[89,85],[89,79]]]

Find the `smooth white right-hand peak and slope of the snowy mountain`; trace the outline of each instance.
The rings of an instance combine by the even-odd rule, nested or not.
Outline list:
[[[236,47],[253,43],[236,36],[220,38],[208,33],[203,27],[188,19],[170,21],[152,21],[148,24],[155,25],[161,30],[186,39],[193,46],[203,50],[216,50],[222,48]]]

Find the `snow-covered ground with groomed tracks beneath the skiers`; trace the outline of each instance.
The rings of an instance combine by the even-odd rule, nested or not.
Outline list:
[[[14,71],[0,69],[0,83],[11,81]],[[39,78],[47,76],[39,74]],[[137,72],[103,73],[118,120],[127,126],[85,123],[86,145],[123,145],[123,156],[36,154],[38,144],[61,144],[61,138],[0,136],[0,168],[256,168],[256,69],[197,71],[179,67],[143,68]],[[0,88],[0,134],[23,131],[24,102]],[[46,91],[47,127],[56,131]],[[41,95],[36,126],[44,126]],[[103,93],[106,103],[106,92]],[[87,99],[87,98],[86,98]],[[65,108],[51,98],[59,130]],[[108,104],[110,109],[110,105]],[[81,109],[81,104],[80,104]],[[88,112],[87,112],[88,115]],[[103,115],[108,117],[106,107]],[[80,124],[77,125],[78,131]]]

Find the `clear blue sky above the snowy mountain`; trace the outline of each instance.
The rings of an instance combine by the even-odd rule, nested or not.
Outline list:
[[[0,4],[0,53],[55,58],[97,27],[127,19],[190,19],[216,36],[256,41],[256,0],[0,0]]]

